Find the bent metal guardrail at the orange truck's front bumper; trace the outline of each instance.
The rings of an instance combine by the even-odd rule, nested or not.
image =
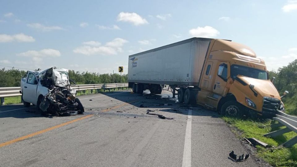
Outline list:
[[[288,115],[283,113],[282,111],[278,111],[275,117],[272,118],[273,120],[278,121],[279,123],[273,124],[273,127],[281,127],[286,126],[284,129],[280,129],[278,131],[273,131],[270,133],[265,134],[266,137],[275,137],[278,135],[282,135],[291,131],[297,133],[297,117]],[[291,148],[293,145],[297,143],[297,136],[293,137],[292,139],[286,141],[285,143],[280,144],[279,146]]]

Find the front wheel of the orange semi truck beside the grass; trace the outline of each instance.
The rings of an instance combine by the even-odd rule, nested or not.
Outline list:
[[[227,101],[221,108],[221,114],[231,117],[241,117],[242,106],[237,101]]]

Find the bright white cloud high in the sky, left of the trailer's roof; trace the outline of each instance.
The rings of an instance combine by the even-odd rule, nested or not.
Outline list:
[[[118,21],[130,22],[136,26],[141,24],[149,24],[146,19],[142,18],[137,13],[121,12],[118,14]]]

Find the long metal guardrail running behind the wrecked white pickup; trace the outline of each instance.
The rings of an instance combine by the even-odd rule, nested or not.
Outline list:
[[[111,89],[111,88],[123,88],[128,87],[128,83],[108,83],[108,84],[84,84],[84,85],[73,85],[71,88],[76,89],[76,91],[85,91],[93,89]],[[11,96],[21,96],[20,93],[21,87],[6,87],[0,88],[0,98],[1,104],[4,103],[4,97]]]

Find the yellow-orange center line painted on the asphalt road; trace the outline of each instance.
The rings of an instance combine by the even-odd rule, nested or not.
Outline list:
[[[137,101],[137,100],[139,100],[139,99],[136,99],[136,100],[134,100],[134,101]],[[134,102],[134,101],[130,101],[130,102],[128,102],[128,103],[124,103],[124,104],[121,104],[121,105],[117,105],[117,106],[114,106],[114,107],[112,107],[112,108],[110,108],[110,109],[102,110],[101,112],[107,112],[107,111],[110,111],[111,109],[116,109],[116,108],[122,107],[122,106],[127,105],[127,104],[130,104],[130,103],[132,103],[132,102]],[[93,114],[86,115],[86,116],[84,116],[84,117],[77,118],[77,119],[74,119],[74,120],[72,120],[72,121],[68,121],[68,122],[65,122],[65,123],[62,123],[62,124],[59,124],[59,125],[56,125],[56,126],[52,126],[52,127],[50,127],[50,128],[47,128],[47,129],[44,129],[44,130],[41,130],[41,131],[37,131],[37,132],[31,133],[31,134],[29,134],[29,135],[25,135],[25,136],[19,137],[19,138],[17,138],[17,139],[12,139],[12,140],[10,140],[10,141],[4,142],[4,143],[0,143],[0,148],[1,148],[1,147],[4,147],[4,146],[7,146],[7,145],[9,145],[9,144],[15,143],[15,142],[22,141],[22,140],[24,140],[24,139],[28,139],[28,138],[33,137],[33,136],[36,136],[36,135],[40,135],[40,134],[45,133],[45,132],[47,132],[47,131],[51,131],[51,130],[57,129],[57,128],[59,128],[59,127],[62,127],[62,126],[71,124],[71,123],[73,123],[73,122],[77,122],[77,121],[83,120],[83,119],[85,119],[85,118],[92,117],[92,116],[93,116]]]

